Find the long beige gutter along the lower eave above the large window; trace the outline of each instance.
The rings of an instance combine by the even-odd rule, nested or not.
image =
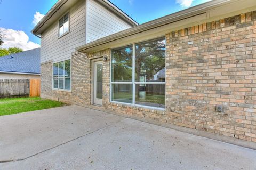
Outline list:
[[[177,21],[187,19],[190,17],[195,17],[196,15],[206,13],[206,11],[213,9],[215,7],[218,7],[218,6],[227,4],[227,3],[231,3],[231,2],[236,2],[236,1],[239,1],[239,0],[213,0],[210,2],[206,2],[203,4],[197,5],[197,6],[190,7],[189,9],[186,9],[186,10],[175,12],[175,13],[167,15],[165,17],[158,18],[158,19],[143,23],[138,26],[134,26],[132,28],[120,31],[118,33],[109,35],[107,37],[100,38],[91,43],[87,43],[85,45],[79,46],[79,47],[75,48],[75,50],[76,51],[88,50],[92,47],[96,47],[99,45],[107,44],[109,42],[117,41],[118,39],[121,39],[121,38],[124,38],[127,36],[131,36],[134,34],[138,34],[143,31],[147,31],[150,29],[168,25],[170,23],[177,22]]]

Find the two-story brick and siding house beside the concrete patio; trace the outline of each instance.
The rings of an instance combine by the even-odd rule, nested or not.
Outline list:
[[[255,144],[255,10],[213,0],[137,25],[105,0],[58,1],[32,31],[41,96]]]

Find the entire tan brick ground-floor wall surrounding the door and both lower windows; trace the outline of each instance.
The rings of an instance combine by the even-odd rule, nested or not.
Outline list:
[[[91,60],[108,56],[104,109],[256,142],[255,20],[251,12],[166,35],[165,111],[109,102],[110,49],[72,54],[71,92],[52,90],[52,62],[43,63],[42,96],[90,105]]]

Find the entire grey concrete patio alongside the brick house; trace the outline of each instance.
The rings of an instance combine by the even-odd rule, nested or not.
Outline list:
[[[256,151],[80,106],[0,117],[0,169],[256,169]]]

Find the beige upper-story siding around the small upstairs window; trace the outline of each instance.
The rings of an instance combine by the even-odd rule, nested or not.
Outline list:
[[[41,63],[71,58],[75,47],[85,44],[86,1],[79,1],[70,8],[70,29],[65,36],[58,37],[58,21],[41,36]]]

